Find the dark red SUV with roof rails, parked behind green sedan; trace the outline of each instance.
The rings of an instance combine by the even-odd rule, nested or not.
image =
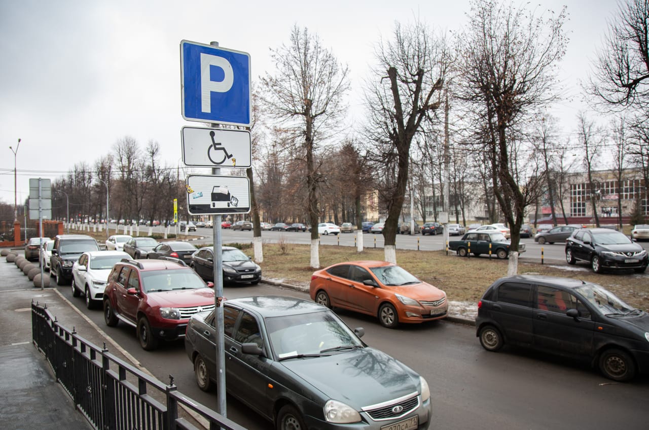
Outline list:
[[[104,320],[125,322],[138,331],[147,351],[158,340],[185,335],[190,316],[214,309],[213,283],[205,283],[179,260],[123,259],[113,267],[104,290]]]

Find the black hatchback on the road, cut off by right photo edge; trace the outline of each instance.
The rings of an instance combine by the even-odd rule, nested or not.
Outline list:
[[[478,303],[476,335],[487,351],[511,344],[587,360],[615,381],[649,373],[649,314],[579,279],[498,279]]]

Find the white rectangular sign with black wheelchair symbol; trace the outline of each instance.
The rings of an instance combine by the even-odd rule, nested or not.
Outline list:
[[[252,166],[251,137],[245,130],[182,127],[182,161],[194,167]]]

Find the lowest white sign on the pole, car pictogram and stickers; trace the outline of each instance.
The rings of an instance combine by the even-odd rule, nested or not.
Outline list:
[[[188,175],[187,210],[191,215],[247,214],[250,181],[241,176]]]

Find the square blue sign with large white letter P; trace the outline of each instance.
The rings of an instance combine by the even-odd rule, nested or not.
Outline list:
[[[248,53],[182,40],[180,88],[185,120],[251,124]]]

